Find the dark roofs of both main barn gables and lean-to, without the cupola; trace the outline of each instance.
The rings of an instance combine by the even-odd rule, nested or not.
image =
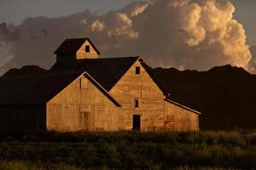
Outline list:
[[[22,75],[19,72],[14,75],[0,78],[0,105],[5,104],[42,104],[52,99],[55,94],[61,92],[68,84],[79,75],[84,74],[90,82],[94,83],[108,99],[117,106],[119,102],[108,91],[124,76],[137,60],[143,65],[148,75],[157,84],[163,94],[167,94],[157,77],[154,77],[152,68],[143,62],[140,57],[78,59],[69,65],[55,63],[48,74]],[[11,75],[11,74],[10,74]],[[57,82],[57,83],[56,83]],[[27,93],[29,92],[29,93]],[[166,95],[166,101],[183,107],[186,110],[200,114],[184,105],[170,99]]]

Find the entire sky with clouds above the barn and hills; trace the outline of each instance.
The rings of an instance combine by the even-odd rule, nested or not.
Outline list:
[[[195,4],[184,3],[188,1]],[[205,2],[208,1],[212,0]],[[54,62],[52,53],[49,52],[65,39],[65,34],[67,37],[92,37],[92,41],[95,40],[105,56],[143,55],[153,66],[174,66],[180,70],[201,71],[215,65],[230,64],[256,72],[256,59],[252,56],[256,50],[255,0],[216,0],[217,3],[214,4],[205,3],[203,0],[153,2],[156,3],[148,6],[144,1],[132,0],[0,0],[0,74],[1,71],[26,64],[49,68]],[[230,3],[234,5],[234,14]],[[166,8],[164,5],[170,5],[170,8],[165,11],[162,9]],[[169,16],[165,18],[165,14]],[[160,19],[165,18],[170,25],[166,24],[164,19],[154,20],[157,15],[164,16]],[[153,18],[150,18],[152,16]],[[175,16],[181,17],[181,20],[177,20]],[[190,20],[187,20],[186,16],[191,16]],[[202,20],[195,22],[199,16]],[[216,20],[207,23],[209,18]],[[75,21],[80,25],[68,25],[68,22],[75,25]],[[84,28],[81,23],[84,23]],[[154,25],[151,26],[151,23]],[[216,29],[219,31],[212,31],[210,28],[218,25],[220,27]],[[58,26],[66,27],[62,27],[60,32],[55,32]],[[160,26],[165,26],[166,29]],[[169,40],[158,42],[161,41],[158,37],[147,37],[152,32]],[[216,34],[218,33],[219,37],[223,32],[228,36],[217,40]],[[47,38],[43,38],[41,34]],[[49,38],[50,34],[54,36]],[[38,41],[34,41],[37,38]],[[229,43],[228,39],[232,43]],[[158,42],[161,49],[159,53],[155,52],[157,50],[148,50],[158,46],[153,44],[153,41]],[[181,42],[176,43],[177,41]],[[209,43],[211,45],[207,45]],[[172,47],[167,47],[166,44],[171,44]],[[177,44],[179,46],[175,47]],[[162,48],[163,45],[166,47]],[[131,49],[127,49],[127,46]],[[41,50],[39,47],[45,49],[42,50],[42,56],[38,54]],[[37,58],[28,57],[35,54],[38,55]],[[43,54],[50,57],[44,58]],[[49,59],[49,62],[46,59]]]

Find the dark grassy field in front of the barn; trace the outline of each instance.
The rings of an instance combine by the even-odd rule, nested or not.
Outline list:
[[[254,169],[255,132],[2,135],[0,169]]]

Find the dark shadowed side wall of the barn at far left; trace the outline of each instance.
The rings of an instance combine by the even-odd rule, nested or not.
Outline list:
[[[45,105],[0,106],[0,132],[44,131]]]

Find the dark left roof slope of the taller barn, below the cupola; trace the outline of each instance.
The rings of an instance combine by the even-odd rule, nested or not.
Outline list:
[[[77,59],[74,64],[70,65],[55,63],[50,71],[86,71],[109,91],[137,59],[139,57]]]

